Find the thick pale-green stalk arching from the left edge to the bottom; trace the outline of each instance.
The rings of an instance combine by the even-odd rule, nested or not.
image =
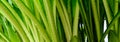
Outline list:
[[[20,24],[17,23],[16,19],[11,15],[11,13],[9,12],[9,10],[7,10],[7,8],[5,8],[5,6],[1,2],[0,2],[0,6],[1,6],[0,7],[0,13],[3,16],[5,16],[7,18],[7,20],[10,21],[10,23],[15,27],[15,29],[19,33],[20,37],[22,38],[22,40],[24,42],[29,42],[26,34],[21,29],[22,27],[20,26]]]

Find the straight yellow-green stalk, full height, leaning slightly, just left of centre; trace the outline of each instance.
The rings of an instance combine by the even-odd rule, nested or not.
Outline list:
[[[57,29],[56,29],[56,26],[55,26],[55,21],[54,21],[54,16],[53,16],[53,12],[51,12],[50,7],[50,2],[48,0],[43,0],[43,3],[44,3],[44,6],[45,6],[45,12],[46,12],[46,16],[47,16],[47,19],[48,19],[48,23],[50,25],[50,30],[52,31],[52,41],[53,42],[59,42],[59,38],[58,38],[58,34],[57,34]]]

